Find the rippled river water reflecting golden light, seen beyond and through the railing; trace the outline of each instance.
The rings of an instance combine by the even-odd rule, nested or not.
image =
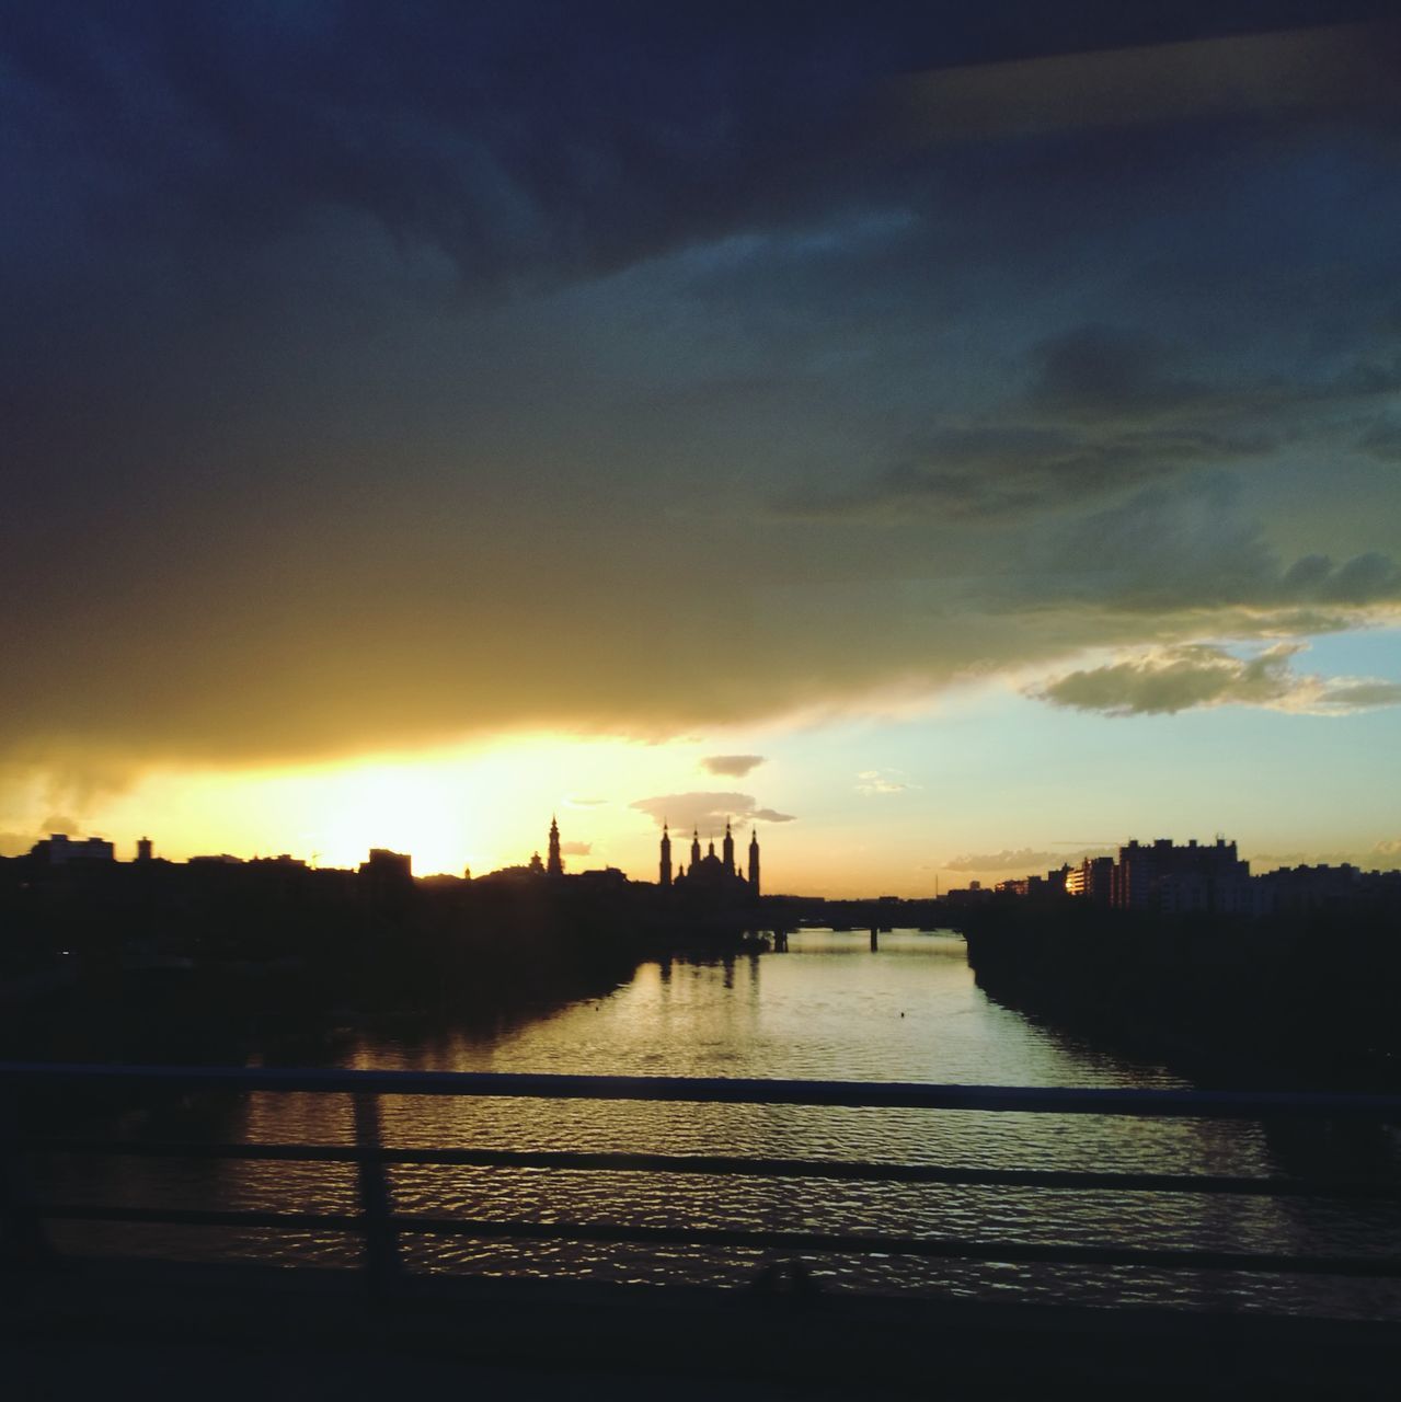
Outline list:
[[[645,963],[611,994],[489,1032],[352,1036],[337,1057],[356,1068],[536,1071],[684,1077],[930,1081],[983,1085],[1182,1087],[1165,1068],[1125,1060],[999,1007],[973,981],[949,934],[881,937],[805,931],[787,953]],[[1248,1088],[1247,1088],[1248,1089]],[[1327,1165],[1397,1180],[1386,1129],[1280,1141],[1230,1120],[1109,1116],[592,1103],[387,1096],[393,1145],[740,1154],[1027,1169],[1289,1175]],[[349,1143],[342,1096],[247,1095],[217,1133],[257,1141]],[[165,1127],[168,1133],[168,1126]],[[1322,1140],[1318,1138],[1322,1136]],[[94,1178],[53,1161],[50,1196],[114,1193],[133,1203],[353,1210],[338,1165],[112,1161]],[[628,1225],[937,1235],[1289,1253],[1394,1253],[1390,1202],[1252,1199],[1198,1193],[1063,1192],[539,1169],[397,1168],[395,1210],[431,1216]],[[352,1242],[310,1232],[81,1228],[83,1251],[156,1251],[352,1265]],[[745,1284],[762,1253],[405,1235],[405,1265],[426,1272]],[[1394,1316],[1401,1288],[1331,1276],[1238,1276],[1129,1267],[965,1263],[907,1256],[806,1259],[822,1288],[919,1291],[1080,1304]]]

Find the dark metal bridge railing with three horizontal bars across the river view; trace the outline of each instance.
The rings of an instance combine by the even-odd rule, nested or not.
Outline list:
[[[348,1096],[353,1144],[160,1141],[112,1136],[36,1134],[18,1106],[35,1095],[97,1087],[150,1092],[230,1091]],[[851,1081],[700,1080],[680,1077],[520,1075],[494,1073],[334,1071],[282,1068],[170,1068],[0,1063],[0,1228],[11,1262],[41,1265],[49,1256],[43,1223],[128,1223],[151,1225],[266,1228],[351,1232],[365,1242],[372,1288],[393,1290],[405,1237],[467,1237],[481,1241],[554,1241],[631,1246],[691,1246],[794,1255],[886,1255],[926,1259],[1135,1266],[1248,1273],[1334,1274],[1401,1279],[1395,1255],[1318,1255],[1109,1244],[984,1241],[944,1235],[750,1230],[705,1225],[522,1221],[400,1213],[388,1173],[405,1165],[588,1169],[719,1178],[784,1178],[928,1183],[1010,1189],[1121,1193],[1206,1193],[1247,1197],[1401,1197],[1394,1180],[1346,1176],[1252,1176],[979,1168],[937,1164],[878,1164],[717,1154],[614,1151],[422,1148],[386,1145],[380,1098],[513,1096],[548,1101],[659,1101],[704,1105],[850,1106],[912,1110],[977,1110],[1140,1119],[1372,1120],[1401,1122],[1401,1096],[1329,1094],[1237,1094],[1223,1091],[1139,1091],[1027,1087],[924,1085]],[[6,1110],[8,1108],[8,1110]],[[65,1203],[43,1195],[28,1176],[38,1154],[175,1159],[351,1164],[356,1169],[355,1211],[261,1211],[223,1207],[133,1207]]]

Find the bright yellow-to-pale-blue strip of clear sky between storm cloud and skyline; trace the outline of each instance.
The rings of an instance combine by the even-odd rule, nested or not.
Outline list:
[[[934,716],[827,726],[818,746],[811,733],[771,726],[749,732],[747,750],[733,735],[669,744],[553,739],[498,744],[480,757],[439,751],[233,775],[167,771],[104,798],[87,822],[43,812],[39,795],[32,810],[62,822],[0,833],[0,854],[27,851],[60,829],[101,830],[128,845],[156,830],[175,857],[293,851],[353,865],[369,847],[390,845],[412,851],[421,872],[453,873],[509,865],[522,847],[537,845],[539,813],[558,810],[568,815],[569,857],[639,872],[668,816],[686,830],[698,823],[703,836],[718,836],[726,817],[742,829],[781,826],[788,841],[776,855],[776,879],[815,894],[878,887],[921,896],[935,880],[991,885],[1109,851],[1135,834],[1240,833],[1258,871],[1300,862],[1401,866],[1401,841],[1387,836],[1390,789],[1379,782],[1395,767],[1388,716],[1105,721],[1063,712],[1055,718],[1056,743],[1038,750],[1045,729],[1008,728],[999,714],[1034,704],[1008,693],[993,702],[965,695],[962,705],[945,698]],[[1328,743],[1314,742],[1311,754],[1280,765],[1279,753],[1297,744],[1292,736],[1314,725]],[[1136,728],[1149,732],[1147,743]],[[1199,753],[1184,756],[1171,743],[1182,729],[1202,737]],[[1359,742],[1359,730],[1373,737]],[[1154,743],[1154,732],[1165,740]],[[935,749],[944,735],[955,736],[949,751]],[[1244,744],[1226,756],[1237,784],[1227,788],[1210,770],[1223,763],[1221,746],[1238,739]],[[917,746],[923,761],[912,764]],[[561,791],[558,775],[571,763],[579,784]],[[1126,765],[1140,780],[1129,788]],[[628,770],[637,781],[620,788]],[[1301,788],[1310,791],[1303,809],[1294,799]],[[509,801],[473,802],[481,789]],[[769,806],[770,799],[784,806]],[[1314,836],[1321,819],[1336,836]]]

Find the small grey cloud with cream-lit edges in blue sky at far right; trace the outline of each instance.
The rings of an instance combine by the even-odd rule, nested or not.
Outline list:
[[[1296,673],[1290,663],[1303,651],[1300,644],[1278,644],[1255,656],[1238,658],[1206,644],[1161,648],[1066,673],[1031,694],[1052,705],[1121,716],[1216,705],[1342,715],[1401,705],[1401,681],[1327,680]]]

